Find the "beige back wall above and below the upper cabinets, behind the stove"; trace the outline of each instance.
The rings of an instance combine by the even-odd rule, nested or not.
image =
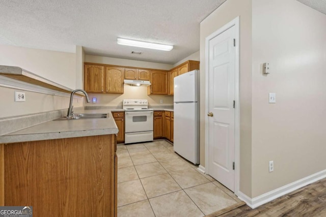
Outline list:
[[[170,70],[173,68],[169,64],[158,64],[146,61],[129,59],[119,59],[104,56],[86,55],[85,61],[89,63],[110,64],[118,66],[140,67],[150,69]],[[173,105],[173,96],[167,95],[147,95],[147,87],[144,86],[124,86],[124,94],[89,94],[91,98],[96,97],[97,103],[88,103],[87,106],[122,106],[123,99],[145,99],[150,106]],[[163,103],[160,103],[163,100]]]

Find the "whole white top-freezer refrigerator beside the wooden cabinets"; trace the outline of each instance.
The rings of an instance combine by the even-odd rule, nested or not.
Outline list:
[[[174,78],[173,149],[199,164],[199,70]]]

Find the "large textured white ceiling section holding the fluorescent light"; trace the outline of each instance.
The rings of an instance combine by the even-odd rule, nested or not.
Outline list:
[[[0,44],[174,64],[199,50],[200,22],[225,0],[0,0]],[[157,51],[117,37],[174,45]],[[131,54],[131,51],[141,51]]]

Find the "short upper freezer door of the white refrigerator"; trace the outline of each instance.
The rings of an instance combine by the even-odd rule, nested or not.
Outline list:
[[[174,102],[198,102],[199,70],[174,78]]]

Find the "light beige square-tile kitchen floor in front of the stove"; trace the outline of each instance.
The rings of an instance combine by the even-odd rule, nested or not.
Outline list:
[[[204,216],[240,200],[166,140],[118,145],[118,216]]]

